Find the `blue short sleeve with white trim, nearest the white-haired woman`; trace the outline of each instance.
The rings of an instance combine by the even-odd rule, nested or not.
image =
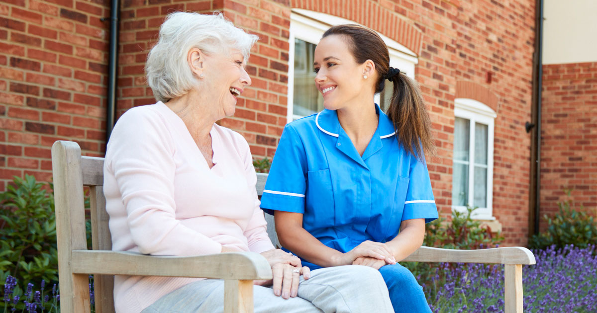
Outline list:
[[[272,168],[261,196],[261,209],[304,213],[306,155],[296,129],[287,125],[273,157]]]

